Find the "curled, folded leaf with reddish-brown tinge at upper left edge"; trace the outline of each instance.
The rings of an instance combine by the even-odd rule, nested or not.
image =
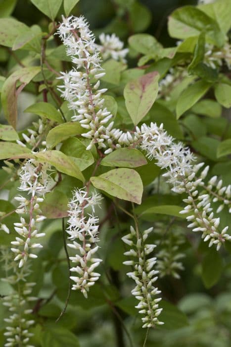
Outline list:
[[[20,92],[20,89],[16,89],[16,83],[20,81],[27,85],[39,72],[39,66],[23,67],[13,72],[2,86],[1,103],[4,116],[13,128],[16,128],[17,123],[17,97]]]

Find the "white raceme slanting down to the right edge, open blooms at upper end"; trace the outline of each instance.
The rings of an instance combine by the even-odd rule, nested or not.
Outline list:
[[[146,151],[147,157],[157,161],[157,165],[167,172],[163,176],[168,178],[168,182],[174,184],[172,190],[176,193],[187,193],[187,198],[183,201],[187,204],[182,214],[189,214],[186,217],[190,222],[188,228],[193,228],[192,231],[202,231],[204,241],[210,240],[209,246],[217,245],[217,250],[225,240],[231,240],[231,236],[227,234],[228,227],[221,231],[218,229],[220,218],[214,216],[213,208],[211,207],[210,194],[204,194],[203,188],[207,187],[209,193],[212,191],[213,184],[216,183],[217,177],[213,177],[206,186],[204,178],[206,177],[209,167],[197,176],[197,172],[202,168],[204,163],[192,165],[195,160],[190,150],[179,142],[175,143],[172,136],[169,136],[163,130],[163,124],[159,127],[156,123],[151,123],[150,126],[143,124],[141,126],[142,143],[141,148]],[[212,184],[211,184],[212,183]],[[218,191],[218,194],[216,193]],[[222,181],[216,185],[214,192],[215,201],[218,196],[224,194],[230,195],[230,187],[222,187]],[[221,206],[228,205],[230,202],[225,198]],[[219,207],[217,213],[223,207]]]

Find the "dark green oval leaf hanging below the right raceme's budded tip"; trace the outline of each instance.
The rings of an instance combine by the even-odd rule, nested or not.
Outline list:
[[[222,257],[216,249],[211,249],[202,261],[202,281],[206,288],[213,287],[220,279],[223,270]]]

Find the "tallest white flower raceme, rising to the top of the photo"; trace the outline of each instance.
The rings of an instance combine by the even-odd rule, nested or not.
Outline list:
[[[84,17],[63,18],[58,34],[67,47],[67,55],[71,56],[75,68],[62,73],[64,84],[59,86],[61,96],[68,101],[69,108],[74,110],[73,120],[79,121],[87,132],[82,136],[91,140],[88,149],[94,143],[105,148],[105,127],[111,113],[103,107],[102,94],[107,89],[99,89],[99,78],[105,73],[100,66],[101,58],[94,36]],[[93,80],[93,81],[92,81]]]

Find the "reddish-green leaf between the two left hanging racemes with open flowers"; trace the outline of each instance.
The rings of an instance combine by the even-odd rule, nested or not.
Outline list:
[[[64,193],[55,189],[46,193],[46,199],[40,204],[42,214],[46,218],[56,219],[67,217],[68,199]]]

